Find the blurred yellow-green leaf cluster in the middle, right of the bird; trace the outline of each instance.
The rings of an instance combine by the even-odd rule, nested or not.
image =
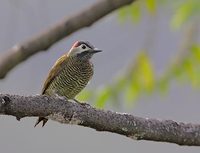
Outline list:
[[[139,98],[141,93],[150,93],[154,88],[154,70],[148,54],[141,51],[129,70],[125,90],[125,101],[128,105]]]

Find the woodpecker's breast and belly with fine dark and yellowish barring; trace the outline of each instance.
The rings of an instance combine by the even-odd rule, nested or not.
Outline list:
[[[50,85],[51,91],[59,96],[73,99],[90,81],[93,65],[89,61],[69,62]]]

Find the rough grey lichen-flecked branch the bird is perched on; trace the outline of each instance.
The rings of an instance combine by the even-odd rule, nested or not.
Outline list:
[[[61,123],[113,132],[135,140],[200,146],[200,125],[145,119],[126,113],[98,110],[89,104],[44,95],[24,97],[0,94],[0,114],[13,115],[18,120],[23,117],[48,116]]]

